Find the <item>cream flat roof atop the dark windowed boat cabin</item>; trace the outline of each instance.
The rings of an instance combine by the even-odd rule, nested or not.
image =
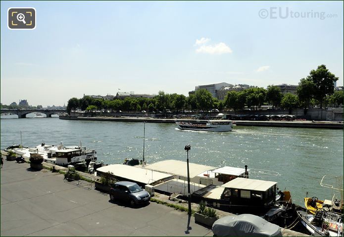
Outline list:
[[[277,184],[277,182],[258,180],[258,179],[235,178],[221,185],[221,187],[265,192],[266,190],[268,190],[275,184]]]

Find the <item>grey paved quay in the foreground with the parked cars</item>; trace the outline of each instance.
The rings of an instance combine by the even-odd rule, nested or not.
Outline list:
[[[44,162],[44,166],[50,164]],[[213,236],[211,230],[195,224],[194,217],[187,234],[186,212],[155,202],[139,208],[112,203],[91,183],[82,181],[77,186],[49,169],[31,170],[28,163],[5,160],[0,178],[0,236]],[[161,194],[154,198],[188,205]],[[197,204],[193,203],[192,208],[197,210]],[[219,217],[232,215],[217,212]],[[307,236],[283,228],[282,234]]]

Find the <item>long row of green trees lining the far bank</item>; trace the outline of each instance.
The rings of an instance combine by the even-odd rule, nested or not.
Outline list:
[[[275,85],[264,88],[249,88],[240,92],[230,91],[225,99],[218,100],[205,89],[195,91],[186,97],[183,94],[167,94],[159,91],[153,98],[125,99],[95,99],[84,96],[81,99],[71,98],[68,101],[67,111],[80,109],[82,111],[114,110],[114,111],[163,111],[179,112],[185,110],[218,109],[243,110],[245,107],[257,110],[261,105],[272,105],[273,108],[295,109],[309,108],[311,105],[343,104],[343,90],[334,91],[334,82],[338,80],[329,72],[325,65],[320,65],[312,70],[309,76],[300,79],[296,94],[282,94],[281,89]]]

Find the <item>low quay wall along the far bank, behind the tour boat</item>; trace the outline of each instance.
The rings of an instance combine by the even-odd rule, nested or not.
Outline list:
[[[122,122],[156,122],[156,123],[175,123],[177,121],[195,121],[195,119],[174,119],[174,118],[150,118],[150,117],[77,117],[77,116],[60,116],[59,119],[67,120],[91,120],[91,121],[122,121]],[[206,122],[207,120],[197,120]],[[343,122],[333,121],[234,121],[241,126],[268,126],[268,127],[303,127],[303,128],[329,128],[343,129]]]

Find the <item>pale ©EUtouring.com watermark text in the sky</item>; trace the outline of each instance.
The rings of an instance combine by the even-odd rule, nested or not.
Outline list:
[[[337,14],[327,14],[324,11],[293,11],[289,7],[263,8],[259,10],[258,16],[262,19],[314,18],[320,20],[338,17]]]

